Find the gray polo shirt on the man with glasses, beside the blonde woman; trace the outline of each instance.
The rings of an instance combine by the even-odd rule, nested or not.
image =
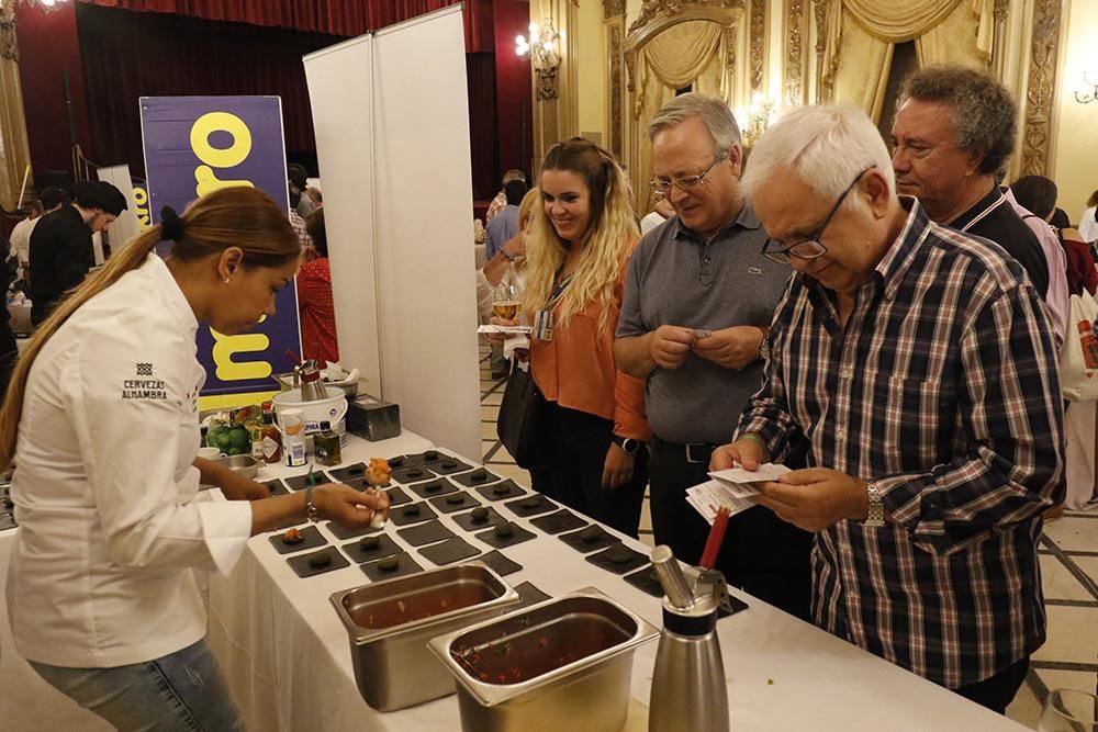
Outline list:
[[[750,204],[709,244],[672,216],[632,254],[617,336],[643,336],[661,325],[769,327],[791,269],[759,254],[765,240]],[[677,369],[649,375],[648,423],[668,442],[727,442],[761,383],[762,361],[736,371],[687,353]]]

